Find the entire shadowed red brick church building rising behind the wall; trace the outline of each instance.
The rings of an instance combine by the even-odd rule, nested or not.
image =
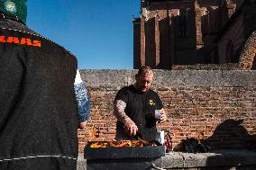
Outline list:
[[[254,0],[142,0],[141,13],[133,19],[133,68],[238,63],[256,30]]]

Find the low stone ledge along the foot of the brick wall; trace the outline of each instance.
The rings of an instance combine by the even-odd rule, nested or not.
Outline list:
[[[162,168],[215,167],[215,166],[256,166],[256,151],[223,149],[211,153],[171,152],[161,157]],[[78,156],[78,170],[87,169],[83,154]]]

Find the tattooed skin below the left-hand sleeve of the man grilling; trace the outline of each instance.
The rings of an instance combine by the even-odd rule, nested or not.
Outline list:
[[[114,101],[114,116],[118,121],[124,122],[124,120],[128,117],[124,112],[125,107],[126,103],[124,103],[122,100]]]

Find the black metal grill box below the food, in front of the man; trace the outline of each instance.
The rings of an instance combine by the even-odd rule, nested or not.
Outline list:
[[[87,170],[150,170],[161,166],[160,157],[165,156],[164,146],[145,147],[106,147],[84,149]]]

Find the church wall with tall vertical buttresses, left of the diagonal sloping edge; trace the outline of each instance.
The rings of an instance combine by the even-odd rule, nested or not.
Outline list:
[[[133,18],[133,68],[215,62],[204,58],[235,9],[233,0],[141,0]]]

